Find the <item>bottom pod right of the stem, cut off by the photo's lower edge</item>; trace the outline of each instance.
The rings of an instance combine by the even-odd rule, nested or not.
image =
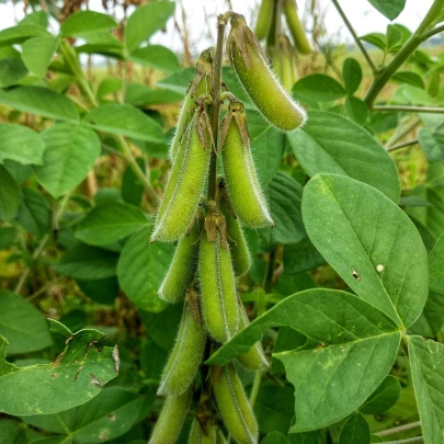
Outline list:
[[[215,367],[213,390],[224,423],[239,444],[258,443],[258,423],[232,364]]]

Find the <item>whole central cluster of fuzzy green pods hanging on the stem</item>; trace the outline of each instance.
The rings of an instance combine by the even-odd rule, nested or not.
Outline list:
[[[304,123],[304,111],[277,83],[257,37],[238,14],[231,16],[227,54],[266,119],[282,130],[293,130]],[[274,225],[251,157],[244,106],[231,94],[219,140],[213,138],[207,114],[212,79],[213,56],[205,50],[179,116],[170,148],[172,168],[152,230],[151,241],[178,242],[158,295],[168,303],[183,303],[183,315],[158,390],[167,400],[149,444],[177,441],[204,357],[249,322],[236,281],[251,262],[241,225]],[[252,84],[264,81],[272,96],[266,98]],[[216,195],[208,201],[202,195],[212,152],[220,153],[224,175],[217,178]],[[269,366],[260,343],[237,361],[249,371]],[[257,443],[257,421],[234,363],[205,368],[189,443],[225,441],[216,411],[236,442]]]

